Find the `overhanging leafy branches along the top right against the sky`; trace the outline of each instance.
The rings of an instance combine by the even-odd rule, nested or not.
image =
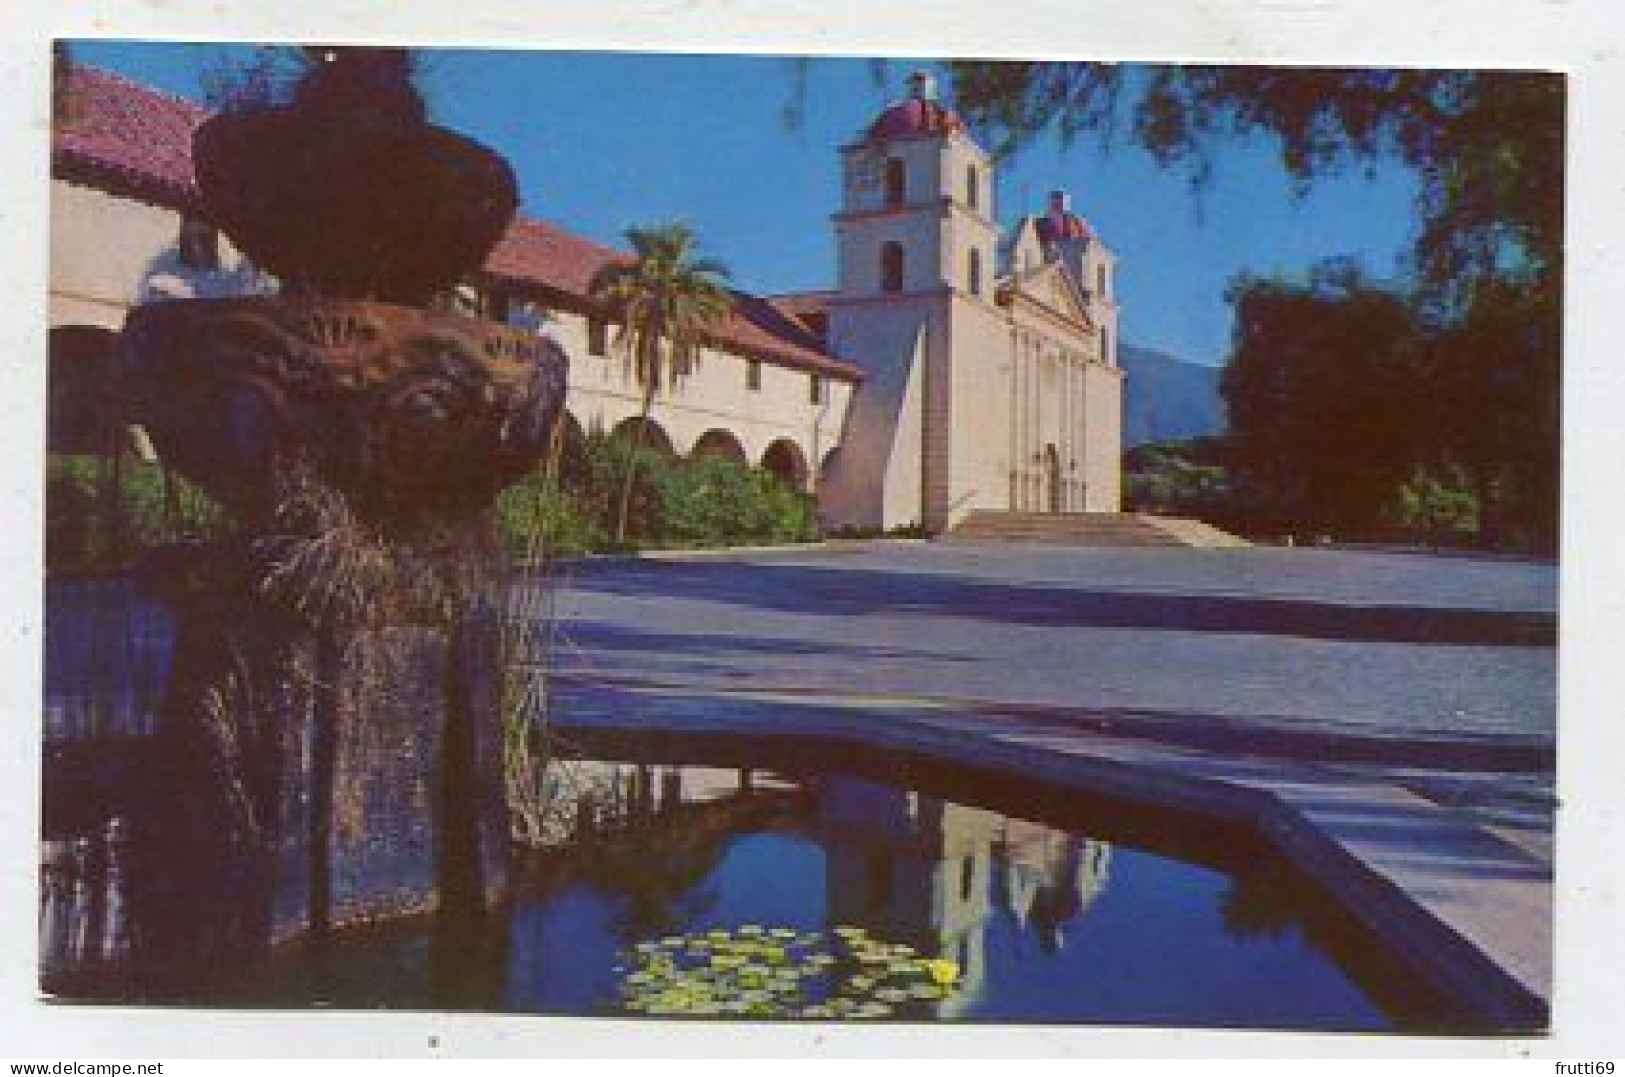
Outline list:
[[[1417,270],[1441,299],[1516,273],[1555,275],[1563,226],[1563,80],[1540,71],[949,65],[965,117],[1004,156],[1046,132],[1110,141],[1126,125],[1194,184],[1250,135],[1279,138],[1300,190],[1355,164],[1401,161],[1420,180]]]

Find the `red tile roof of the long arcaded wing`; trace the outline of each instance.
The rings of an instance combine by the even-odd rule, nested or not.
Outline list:
[[[192,132],[210,115],[208,109],[83,65],[70,70],[68,93],[70,122],[55,133],[58,172],[166,206],[197,205]],[[588,284],[600,266],[627,257],[554,224],[517,218],[486,258],[486,271],[587,305]],[[830,356],[796,317],[759,296],[734,292],[733,314],[715,340],[720,348],[782,365],[863,378],[861,367]]]

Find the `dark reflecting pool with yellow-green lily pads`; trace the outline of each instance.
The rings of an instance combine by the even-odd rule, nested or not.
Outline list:
[[[483,924],[348,932],[153,996],[119,827],[47,835],[47,988],[218,1006],[1394,1030],[1436,999],[1238,835],[975,776],[575,760]],[[982,796],[982,794],[986,796]],[[1194,853],[1194,854],[1193,854]],[[84,864],[101,864],[86,880]],[[78,871],[78,876],[75,872]],[[78,947],[76,950],[73,947]],[[136,970],[138,971],[138,970]]]

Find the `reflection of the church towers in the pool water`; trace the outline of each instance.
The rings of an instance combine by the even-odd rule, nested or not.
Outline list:
[[[830,921],[957,962],[944,1017],[980,994],[998,915],[1058,950],[1105,890],[1112,858],[1103,841],[856,778],[819,783],[817,825]]]

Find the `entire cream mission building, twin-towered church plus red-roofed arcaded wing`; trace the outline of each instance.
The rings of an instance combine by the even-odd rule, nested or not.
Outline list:
[[[202,106],[75,65],[52,153],[50,448],[86,445],[73,401],[104,383],[124,315],[164,299],[275,291],[202,216]],[[840,148],[834,288],[734,294],[697,369],[655,398],[645,442],[757,465],[817,499],[826,528],[920,526],[973,510],[1120,507],[1123,372],[1115,257],[1068,195],[1004,237],[994,164],[916,71]],[[588,283],[627,258],[515,219],[463,289],[570,357],[567,434],[635,429],[642,391]],[[140,447],[138,430],[124,430]]]

